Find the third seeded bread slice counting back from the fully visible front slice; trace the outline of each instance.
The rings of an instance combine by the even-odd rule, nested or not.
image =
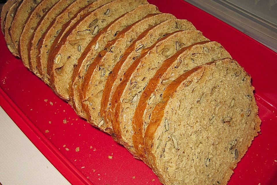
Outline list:
[[[161,38],[143,53],[127,69],[117,86],[108,110],[115,140],[134,153],[132,118],[141,92],[160,68],[162,62],[182,47],[208,40],[200,31],[181,30]],[[151,62],[151,61],[155,62]]]

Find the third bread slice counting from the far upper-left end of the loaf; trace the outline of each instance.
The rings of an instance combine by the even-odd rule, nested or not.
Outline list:
[[[40,1],[41,0],[23,0],[16,10],[11,27],[9,28],[9,33],[16,49],[18,49],[19,38],[26,20]]]

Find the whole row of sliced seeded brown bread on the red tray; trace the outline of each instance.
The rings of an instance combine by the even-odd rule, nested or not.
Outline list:
[[[227,184],[260,130],[250,75],[146,0],[8,0],[8,49],[166,185]]]

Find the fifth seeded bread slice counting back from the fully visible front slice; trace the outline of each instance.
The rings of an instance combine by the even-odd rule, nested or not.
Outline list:
[[[172,14],[149,14],[121,31],[105,46],[106,49],[98,53],[85,74],[80,92],[82,107],[90,123],[108,132],[107,129],[111,128],[111,125],[104,123],[99,106],[108,75],[137,36],[147,28],[171,18],[174,18]]]

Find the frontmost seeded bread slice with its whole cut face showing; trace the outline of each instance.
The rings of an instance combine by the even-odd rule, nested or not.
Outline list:
[[[260,130],[253,90],[250,76],[228,58],[167,86],[144,137],[162,184],[227,184]]]

